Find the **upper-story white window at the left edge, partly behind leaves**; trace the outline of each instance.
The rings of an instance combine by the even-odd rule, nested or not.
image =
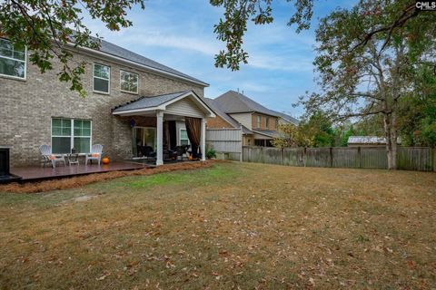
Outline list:
[[[25,80],[25,48],[0,38],[0,75]]]

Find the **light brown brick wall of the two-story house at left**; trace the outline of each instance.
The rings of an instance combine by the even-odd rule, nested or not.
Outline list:
[[[112,115],[111,109],[114,106],[137,99],[141,95],[186,90],[193,90],[203,97],[201,86],[139,71],[100,56],[75,53],[74,60],[88,63],[83,76],[88,96],[84,99],[76,92],[71,92],[68,83],[58,81],[58,63],[54,63],[54,70],[44,74],[27,63],[26,81],[0,76],[0,145],[12,147],[11,166],[39,164],[39,146],[51,144],[52,117],[92,120],[93,143],[103,144],[104,153],[118,160],[132,155],[132,130],[130,119]],[[111,67],[109,95],[93,92],[94,62]],[[120,69],[139,73],[139,95],[120,92]]]

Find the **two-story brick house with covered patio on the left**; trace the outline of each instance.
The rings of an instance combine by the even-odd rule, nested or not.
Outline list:
[[[146,145],[162,164],[164,149],[189,143],[185,117],[202,120],[204,153],[205,121],[214,116],[203,100],[206,82],[105,41],[98,51],[71,51],[74,61],[87,63],[86,98],[58,80],[57,60],[40,73],[27,51],[0,38],[0,145],[11,147],[12,166],[38,164],[42,144],[54,153],[102,144],[114,160],[138,157]]]

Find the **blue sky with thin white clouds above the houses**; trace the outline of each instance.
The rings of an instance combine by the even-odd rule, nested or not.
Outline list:
[[[295,27],[286,25],[293,6],[284,0],[274,1],[272,24],[249,25],[244,38],[249,63],[238,72],[214,67],[213,56],[223,43],[216,40],[213,24],[218,23],[223,10],[207,0],[146,1],[145,10],[134,7],[128,14],[134,25],[121,32],[111,32],[96,20],[86,18],[85,23],[104,40],[210,83],[206,97],[239,88],[272,110],[298,117],[302,108],[292,108],[292,103],[304,92],[317,90],[312,66],[317,19],[352,2],[318,1],[312,29],[295,34]]]

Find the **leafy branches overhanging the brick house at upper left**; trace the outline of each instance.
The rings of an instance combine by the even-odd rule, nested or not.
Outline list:
[[[71,49],[98,49],[100,38],[91,36],[82,14],[100,19],[110,30],[120,30],[132,25],[126,12],[136,4],[144,9],[144,0],[5,0],[0,2],[0,37],[7,37],[16,47],[27,46],[29,61],[41,73],[52,70],[57,58],[59,80],[71,82],[70,89],[85,96],[81,81],[85,63],[74,62]]]

